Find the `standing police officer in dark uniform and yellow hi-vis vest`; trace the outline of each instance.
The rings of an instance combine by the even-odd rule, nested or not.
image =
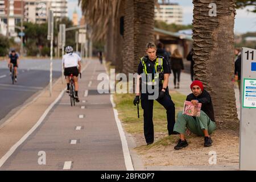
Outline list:
[[[139,94],[141,93],[141,106],[144,117],[144,137],[147,144],[152,144],[154,142],[154,125],[152,120],[154,99],[150,96],[155,93],[149,92],[148,89],[146,89],[146,92],[142,92],[143,89],[140,90],[139,80],[141,80],[142,88],[143,84],[152,85],[152,87],[158,85],[157,88],[159,92],[156,96],[156,101],[166,109],[168,134],[171,135],[177,133],[173,131],[175,124],[175,105],[171,100],[168,90],[170,71],[167,60],[162,56],[156,55],[156,46],[154,43],[147,43],[146,53],[147,56],[141,58],[138,66],[136,96],[133,103],[134,105],[139,104]],[[146,77],[146,81],[143,77]],[[158,82],[155,82],[154,80],[158,80]],[[146,88],[148,87],[146,86]]]

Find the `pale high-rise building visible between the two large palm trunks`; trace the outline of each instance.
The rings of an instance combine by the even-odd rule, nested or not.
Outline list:
[[[159,3],[159,7],[155,6],[155,20],[167,24],[182,24],[183,9],[178,3]]]

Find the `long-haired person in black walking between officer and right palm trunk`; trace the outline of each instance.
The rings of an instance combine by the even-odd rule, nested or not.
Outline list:
[[[172,72],[174,73],[174,88],[180,88],[180,72],[181,69],[184,69],[182,56],[180,55],[178,49],[174,50],[174,53],[171,56],[171,68]],[[176,86],[177,80],[177,86]]]

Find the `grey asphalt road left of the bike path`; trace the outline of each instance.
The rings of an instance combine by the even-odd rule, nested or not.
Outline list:
[[[11,110],[49,84],[49,60],[20,60],[18,82],[13,85],[7,62],[0,62],[0,125]],[[53,82],[61,76],[61,60],[53,60]]]

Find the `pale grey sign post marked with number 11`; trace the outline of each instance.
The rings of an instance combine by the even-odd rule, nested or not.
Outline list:
[[[240,169],[256,170],[256,50],[242,48]]]

